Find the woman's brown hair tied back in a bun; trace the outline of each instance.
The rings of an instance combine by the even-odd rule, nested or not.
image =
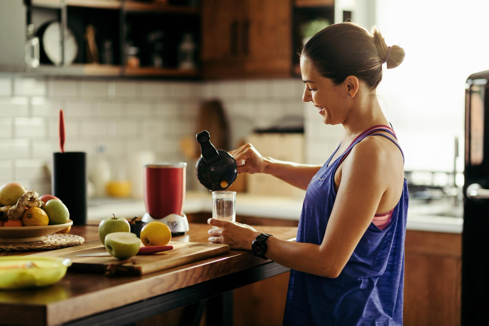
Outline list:
[[[353,75],[363,80],[371,90],[382,80],[382,64],[389,48],[374,25],[370,31],[354,22],[330,25],[317,32],[302,49],[319,73],[336,85]],[[391,46],[387,69],[404,60],[404,49]]]

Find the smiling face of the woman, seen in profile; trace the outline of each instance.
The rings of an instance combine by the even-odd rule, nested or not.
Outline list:
[[[349,111],[349,87],[345,84],[348,78],[336,86],[331,79],[321,76],[307,57],[301,56],[300,64],[302,80],[306,84],[302,100],[312,102],[323,116],[325,124],[343,123]]]

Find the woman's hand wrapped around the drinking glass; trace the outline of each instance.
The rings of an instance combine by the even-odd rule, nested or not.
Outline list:
[[[221,228],[207,231],[209,242],[229,244],[231,249],[251,250],[251,242],[260,235],[260,232],[246,224],[217,218],[209,218],[207,223]]]

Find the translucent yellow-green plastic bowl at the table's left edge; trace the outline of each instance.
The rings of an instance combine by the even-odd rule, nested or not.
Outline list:
[[[37,267],[22,266],[29,262]],[[0,289],[22,289],[54,284],[61,280],[71,261],[62,257],[8,256],[0,257]]]

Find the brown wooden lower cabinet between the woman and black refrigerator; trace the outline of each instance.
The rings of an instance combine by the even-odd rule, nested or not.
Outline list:
[[[408,230],[404,325],[460,325],[462,235]]]

